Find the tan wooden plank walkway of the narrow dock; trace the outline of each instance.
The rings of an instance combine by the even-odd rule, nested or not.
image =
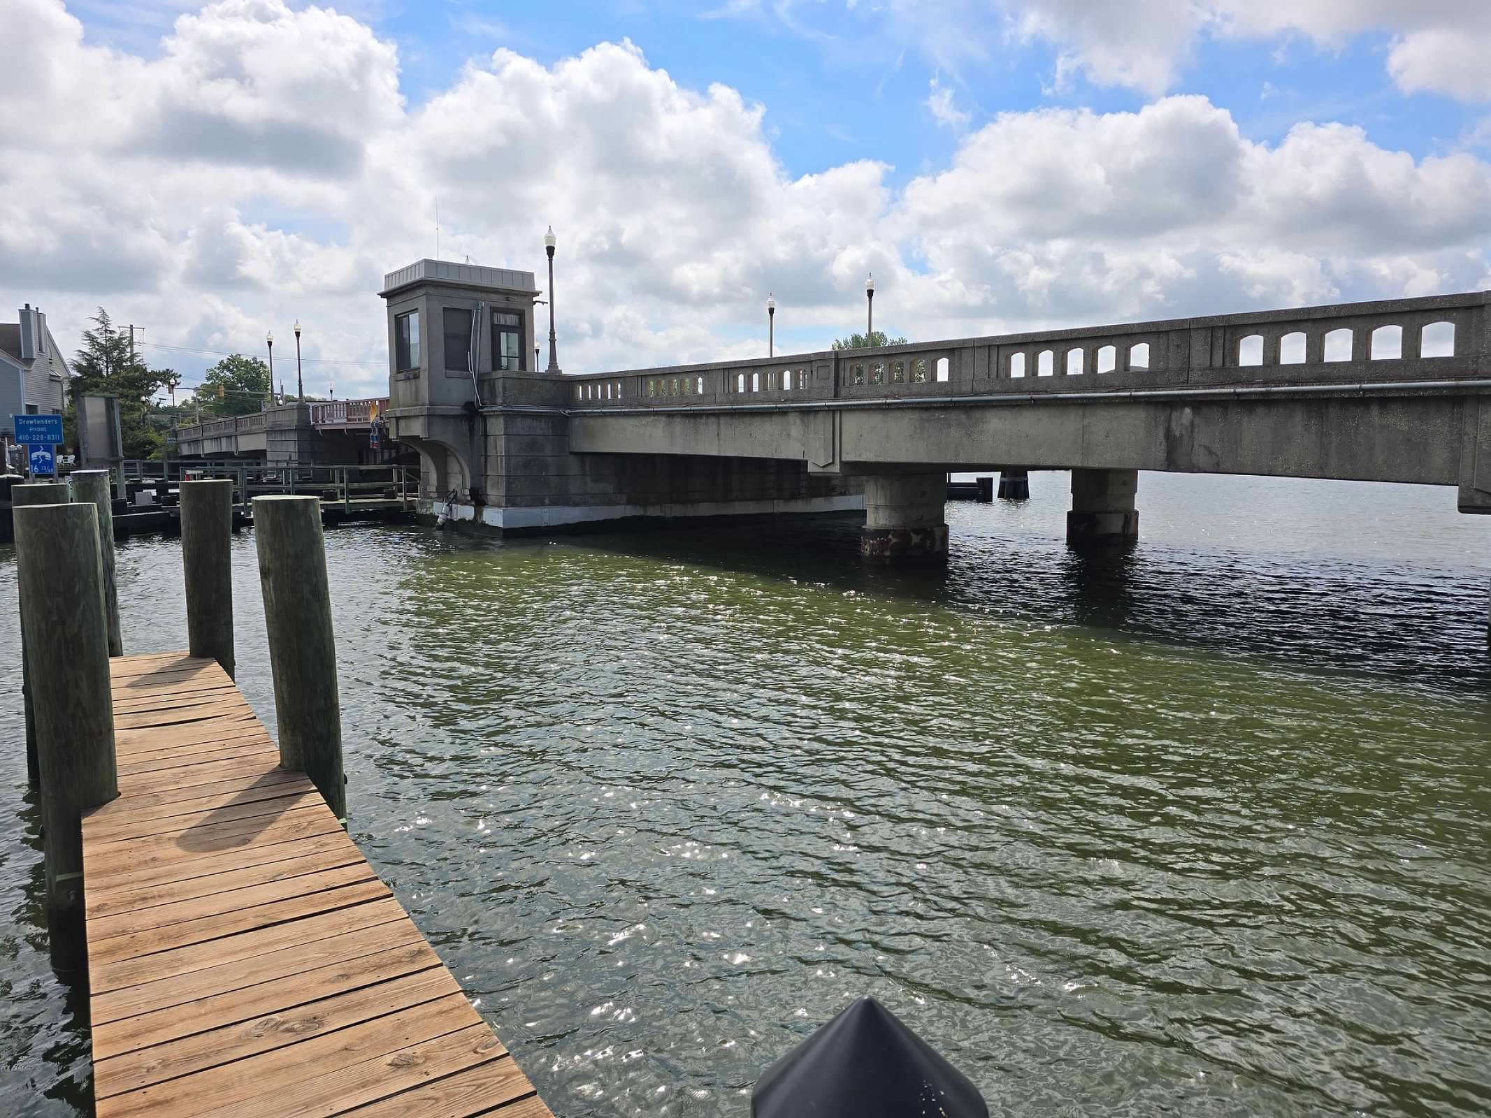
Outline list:
[[[83,820],[98,1118],[552,1118],[227,674],[112,662]]]

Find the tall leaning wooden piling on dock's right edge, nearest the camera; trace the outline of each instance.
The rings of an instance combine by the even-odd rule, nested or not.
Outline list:
[[[280,765],[310,777],[337,818],[347,814],[331,590],[315,496],[253,498]]]

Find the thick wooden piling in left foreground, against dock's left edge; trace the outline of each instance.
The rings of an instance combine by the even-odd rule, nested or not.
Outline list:
[[[22,505],[15,552],[42,777],[48,939],[52,967],[81,973],[82,814],[119,795],[98,513],[91,502]]]

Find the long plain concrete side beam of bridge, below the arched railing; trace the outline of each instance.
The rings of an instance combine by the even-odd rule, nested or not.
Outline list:
[[[579,413],[571,449],[805,461],[813,471],[1160,470],[1491,492],[1491,398],[1376,395],[1033,402],[842,411]],[[1476,455],[1479,443],[1481,452]],[[1469,502],[1467,502],[1469,504]]]

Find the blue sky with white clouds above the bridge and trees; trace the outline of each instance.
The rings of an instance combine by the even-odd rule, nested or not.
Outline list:
[[[386,392],[383,273],[570,373],[1491,288],[1491,0],[0,0],[0,319]],[[540,307],[547,313],[546,307]]]

